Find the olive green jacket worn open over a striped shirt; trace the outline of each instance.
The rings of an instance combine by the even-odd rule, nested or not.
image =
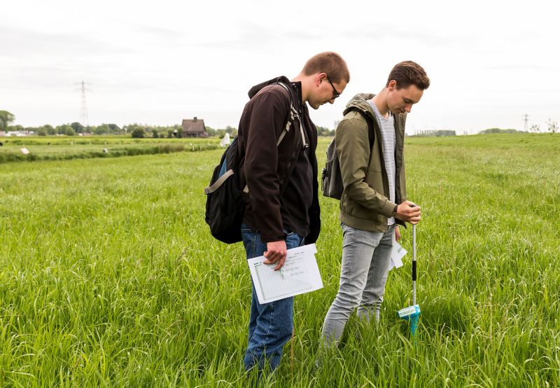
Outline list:
[[[335,144],[342,173],[344,191],[340,198],[340,221],[353,228],[386,232],[387,219],[393,216],[395,205],[406,200],[405,142],[406,113],[395,115],[395,200],[388,200],[388,179],[383,159],[381,129],[367,103],[372,94],[354,96],[346,105],[344,118],[337,126]],[[374,123],[374,141],[370,150],[365,118],[350,108],[357,108],[370,116]],[[371,151],[371,152],[370,152]],[[402,221],[395,219],[404,225]]]

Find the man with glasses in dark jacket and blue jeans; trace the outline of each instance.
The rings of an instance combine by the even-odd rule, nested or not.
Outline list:
[[[313,109],[334,102],[350,81],[346,62],[336,53],[311,57],[291,81],[273,78],[249,90],[237,132],[244,154],[241,184],[247,186],[241,236],[247,258],[264,255],[279,270],[286,250],[317,240],[319,219],[317,132]],[[340,90],[340,92],[338,92]],[[307,104],[306,104],[307,102]],[[288,121],[291,106],[293,121]],[[288,132],[277,145],[286,122]],[[293,297],[261,305],[253,286],[246,370],[279,366],[283,345],[293,331]]]

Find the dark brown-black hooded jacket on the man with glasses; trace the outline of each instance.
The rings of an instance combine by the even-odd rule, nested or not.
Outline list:
[[[278,82],[288,86],[291,97]],[[241,182],[248,187],[243,221],[260,233],[262,242],[284,240],[283,230],[288,230],[311,244],[321,228],[317,132],[302,102],[301,83],[290,82],[284,76],[272,78],[253,86],[248,95],[251,100],[245,105],[237,131],[243,165]],[[293,120],[276,146],[288,120],[290,102],[299,120]]]

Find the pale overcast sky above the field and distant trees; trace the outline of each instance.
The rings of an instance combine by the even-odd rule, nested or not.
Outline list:
[[[414,60],[431,85],[407,133],[560,121],[557,1],[2,1],[0,110],[14,124],[237,127],[252,85],[335,51],[351,80],[310,109],[333,128],[358,92]],[[524,120],[527,115],[528,120]]]

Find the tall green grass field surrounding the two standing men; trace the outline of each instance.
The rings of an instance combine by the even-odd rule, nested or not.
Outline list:
[[[204,223],[221,152],[0,165],[0,386],[248,386],[244,249]],[[295,298],[295,338],[262,386],[558,387],[560,135],[409,138],[406,161],[418,344],[395,315],[409,254],[381,322],[353,317],[314,369],[342,240],[321,198],[324,288]]]

